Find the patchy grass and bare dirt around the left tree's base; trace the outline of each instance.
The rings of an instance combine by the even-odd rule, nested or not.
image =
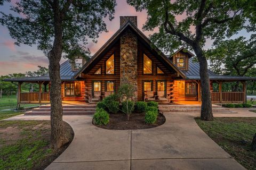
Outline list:
[[[44,169],[68,145],[50,149],[50,121],[0,121],[0,169]],[[64,122],[71,141],[74,132]]]

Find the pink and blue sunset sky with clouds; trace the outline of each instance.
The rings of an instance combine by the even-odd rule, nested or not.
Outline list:
[[[15,5],[17,0],[11,0],[11,4]],[[138,16],[138,28],[148,37],[157,31],[143,31],[142,26],[147,19],[147,12],[136,12],[133,6],[126,3],[126,0],[116,0],[117,6],[115,7],[115,18],[112,21],[105,20],[107,24],[108,32],[102,32],[98,38],[98,43],[95,44],[89,41],[86,47],[91,50],[91,55],[93,55],[97,50],[106,43],[106,41],[114,35],[114,33],[119,29],[119,16]],[[0,11],[8,12],[10,4],[5,3],[0,6]],[[182,20],[184,16],[178,16],[178,20]],[[236,38],[238,36],[250,37],[246,31],[241,31],[238,35],[233,36]],[[9,35],[7,28],[0,25],[0,75],[6,75],[10,73],[25,73],[27,71],[36,71],[37,66],[47,67],[49,62],[47,57],[43,54],[41,50],[38,50],[36,46],[14,45],[14,39]],[[212,41],[207,40],[205,48],[211,48]],[[62,58],[61,63],[65,59]]]

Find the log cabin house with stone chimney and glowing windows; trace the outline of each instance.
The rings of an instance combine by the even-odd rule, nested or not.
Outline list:
[[[120,28],[91,59],[77,58],[75,64],[61,64],[61,95],[65,101],[95,103],[117,91],[126,77],[137,87],[138,100],[164,103],[201,101],[199,64],[193,53],[180,48],[164,55],[151,48],[151,41],[137,28],[137,16],[121,16]],[[213,103],[243,103],[246,101],[246,81],[252,77],[217,75],[209,70]],[[49,103],[49,76],[11,78],[18,82],[18,105]],[[239,81],[242,91],[222,91],[222,83]],[[23,82],[38,83],[39,92],[21,92]],[[218,89],[213,89],[213,83]],[[46,87],[49,88],[46,88]],[[48,91],[47,91],[48,89]]]

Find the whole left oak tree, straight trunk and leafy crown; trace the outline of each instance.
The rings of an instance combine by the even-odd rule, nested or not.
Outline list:
[[[0,3],[2,3],[1,1]],[[104,18],[113,19],[115,0],[21,0],[0,22],[15,44],[37,45],[49,59],[51,81],[51,146],[58,149],[67,141],[63,133],[60,60],[86,57],[87,39],[107,31]]]

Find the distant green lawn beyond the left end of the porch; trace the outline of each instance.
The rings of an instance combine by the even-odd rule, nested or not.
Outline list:
[[[13,107],[17,107],[17,96],[12,95],[12,96],[5,96],[3,95],[2,98],[0,99],[0,111],[4,109],[10,109],[11,105],[13,104]],[[34,106],[39,106],[38,104],[21,104],[21,107],[34,107]]]

